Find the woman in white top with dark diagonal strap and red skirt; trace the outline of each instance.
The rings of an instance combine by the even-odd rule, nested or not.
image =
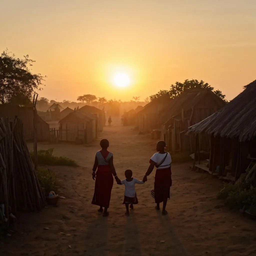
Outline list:
[[[163,202],[162,214],[166,215],[165,210],[167,199],[170,198],[170,187],[172,186],[172,172],[171,162],[172,158],[168,152],[165,152],[166,144],[164,141],[158,141],[156,144],[156,151],[150,158],[150,166],[143,178],[147,180],[147,176],[150,175],[156,166],[155,184],[154,184],[154,197],[156,206],[155,209],[160,210],[160,203]]]

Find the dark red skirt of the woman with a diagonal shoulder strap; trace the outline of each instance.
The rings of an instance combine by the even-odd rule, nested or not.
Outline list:
[[[171,167],[166,169],[157,169],[155,175],[155,202],[157,204],[163,202],[165,198],[170,198],[170,187],[172,186]]]

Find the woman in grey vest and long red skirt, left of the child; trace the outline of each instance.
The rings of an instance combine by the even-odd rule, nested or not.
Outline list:
[[[115,167],[113,164],[113,153],[108,151],[109,141],[103,139],[100,141],[101,151],[96,152],[95,161],[92,168],[92,179],[95,180],[95,189],[92,199],[93,205],[100,206],[99,212],[104,212],[103,216],[108,216],[109,202],[111,190],[113,187],[113,176],[117,178]],[[97,173],[96,169],[98,167]]]

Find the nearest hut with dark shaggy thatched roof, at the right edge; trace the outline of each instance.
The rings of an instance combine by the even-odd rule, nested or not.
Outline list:
[[[202,169],[231,180],[245,172],[251,157],[256,158],[256,80],[244,88],[224,108],[188,128],[196,137],[211,136],[209,164]],[[200,152],[204,148],[198,144]]]

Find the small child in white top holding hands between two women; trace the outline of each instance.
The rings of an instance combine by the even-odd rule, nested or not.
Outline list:
[[[131,209],[133,209],[133,205],[138,204],[138,199],[137,199],[136,192],[135,192],[135,184],[136,183],[137,184],[144,184],[145,181],[133,178],[131,170],[126,170],[124,172],[124,175],[125,175],[126,179],[123,179],[123,180],[116,179],[116,182],[119,185],[125,185],[123,204],[125,204],[125,207],[126,207],[125,215],[129,216],[130,215],[129,204],[131,204],[130,205]]]

